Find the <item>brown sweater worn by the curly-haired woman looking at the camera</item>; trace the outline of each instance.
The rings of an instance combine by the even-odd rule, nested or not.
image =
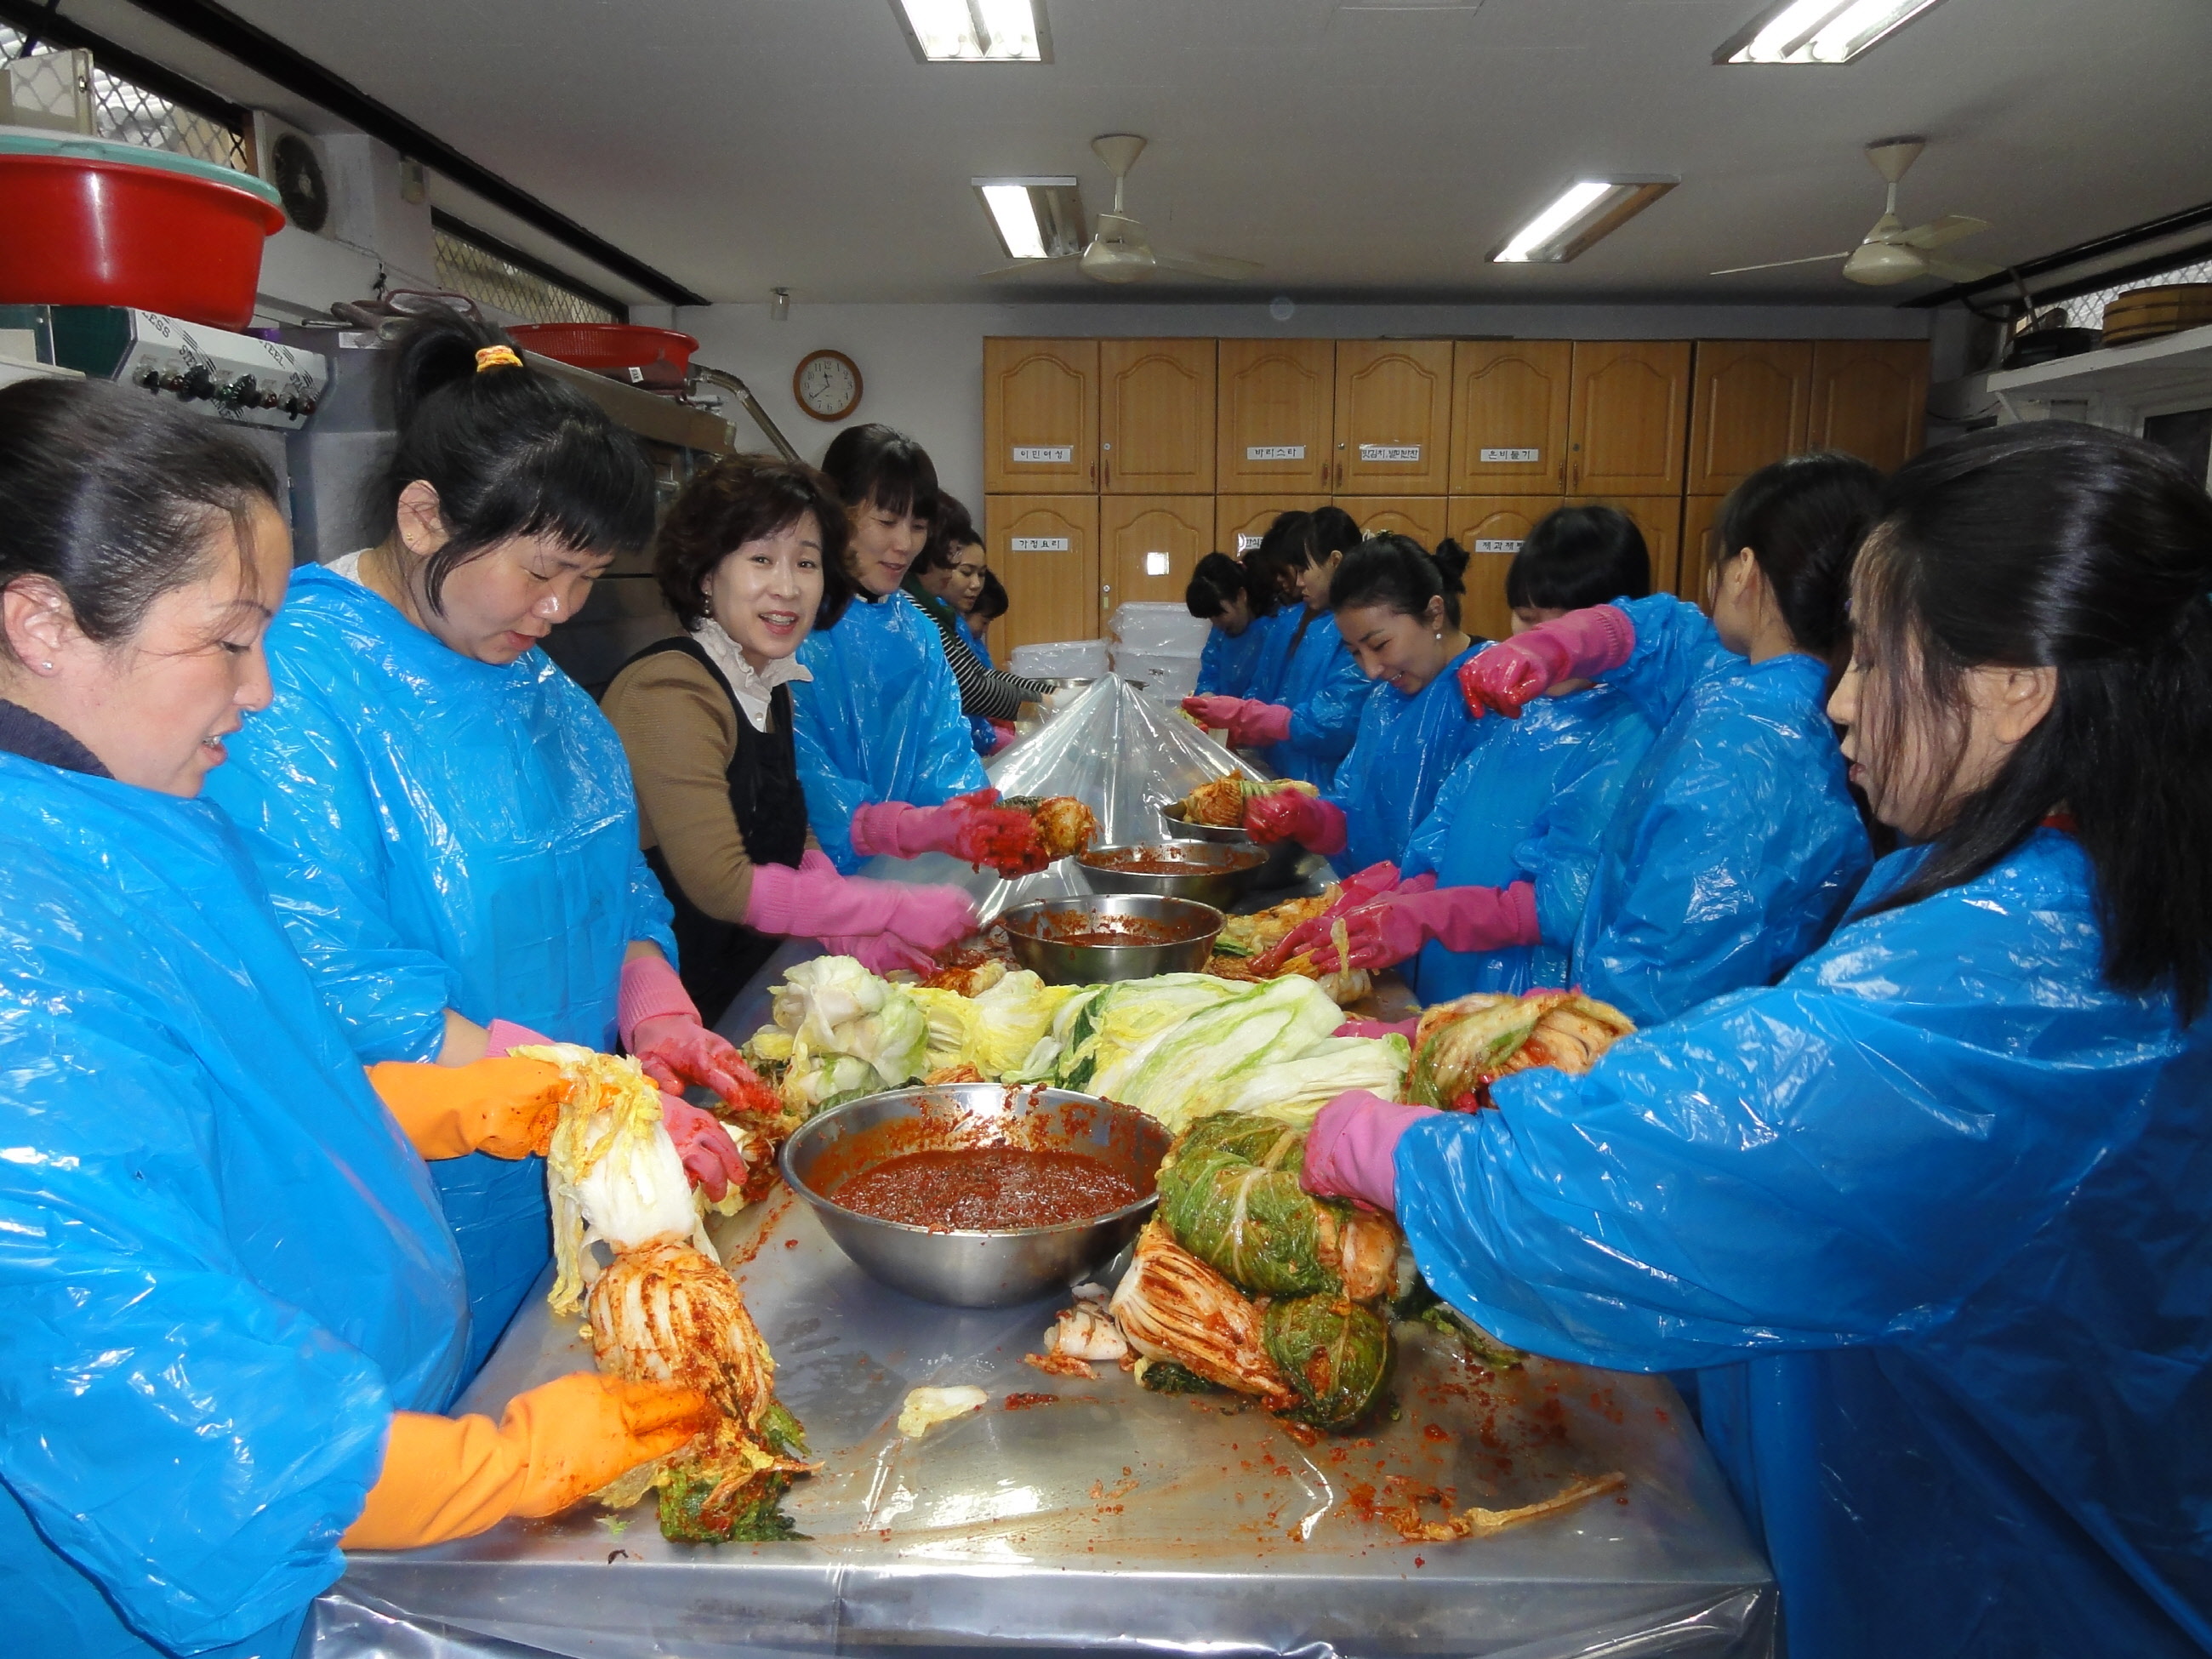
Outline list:
[[[745,719],[714,675],[681,650],[633,661],[599,699],[630,757],[637,845],[659,847],[684,896],[743,922],[752,858],[730,810],[730,761]],[[807,845],[816,845],[807,834]]]

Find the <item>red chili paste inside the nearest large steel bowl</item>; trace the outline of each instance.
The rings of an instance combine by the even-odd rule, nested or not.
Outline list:
[[[931,1232],[1002,1232],[1091,1221],[1144,1197],[1113,1166],[1082,1152],[967,1146],[905,1152],[832,1192],[847,1210]]]

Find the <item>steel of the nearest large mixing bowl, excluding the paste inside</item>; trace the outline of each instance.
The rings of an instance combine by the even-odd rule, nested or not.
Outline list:
[[[869,1279],[945,1307],[1006,1307],[1079,1285],[1121,1250],[1159,1201],[1168,1130],[1130,1106],[1066,1088],[940,1084],[867,1095],[805,1121],[783,1144],[783,1179]],[[1026,1146],[1084,1152],[1144,1197],[1093,1221],[1006,1232],[931,1232],[836,1201],[838,1183],[902,1152]]]

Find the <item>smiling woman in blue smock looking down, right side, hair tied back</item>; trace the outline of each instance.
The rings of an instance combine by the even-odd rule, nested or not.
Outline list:
[[[1453,670],[1475,641],[1460,628],[1467,551],[1405,535],[1360,542],[1329,577],[1329,615],[1374,684],[1352,752],[1321,794],[1283,790],[1252,803],[1259,841],[1296,841],[1338,872],[1398,865],[1413,827],[1473,743]]]

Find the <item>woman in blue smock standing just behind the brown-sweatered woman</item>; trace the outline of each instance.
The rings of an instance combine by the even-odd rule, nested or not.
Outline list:
[[[807,823],[845,876],[874,856],[949,852],[975,858],[1026,834],[1026,814],[995,807],[945,637],[902,591],[938,509],[938,469],[891,427],[847,427],[823,471],[845,498],[854,602],[807,637],[792,681]]]

